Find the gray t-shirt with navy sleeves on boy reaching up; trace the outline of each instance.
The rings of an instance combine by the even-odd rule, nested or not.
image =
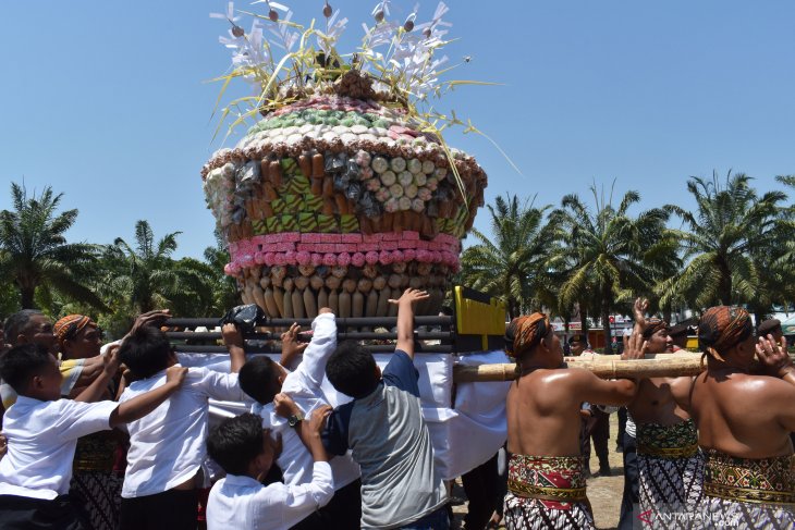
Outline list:
[[[419,375],[402,350],[369,395],[334,410],[326,448],[351,448],[362,468],[362,528],[395,528],[444,505],[447,492],[433,466],[433,446],[419,406]]]

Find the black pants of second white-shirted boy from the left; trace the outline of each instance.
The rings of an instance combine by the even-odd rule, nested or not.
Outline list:
[[[122,530],[196,530],[198,490],[122,498]]]

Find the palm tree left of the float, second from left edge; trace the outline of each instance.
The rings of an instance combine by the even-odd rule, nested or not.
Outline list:
[[[106,288],[117,301],[117,311],[137,315],[159,307],[169,307],[183,297],[194,297],[196,310],[207,299],[208,274],[203,263],[196,260],[174,261],[180,232],[166,234],[155,241],[155,234],[147,221],[135,224],[135,247],[117,237],[106,251],[105,263],[109,272]],[[203,268],[204,267],[204,268]],[[206,304],[205,304],[206,305]],[[195,313],[194,313],[195,315]]]

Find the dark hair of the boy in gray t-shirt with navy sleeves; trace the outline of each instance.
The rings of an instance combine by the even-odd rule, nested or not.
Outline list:
[[[378,385],[376,359],[354,341],[344,341],[329,357],[326,375],[338,392],[364,397]]]

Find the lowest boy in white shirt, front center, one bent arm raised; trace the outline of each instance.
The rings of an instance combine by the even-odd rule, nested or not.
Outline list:
[[[284,394],[277,399],[291,402]],[[311,419],[295,427],[314,460],[311,481],[301,485],[259,482],[273,464],[278,443],[262,430],[258,416],[244,414],[213,429],[207,448],[227,477],[210,491],[207,529],[288,530],[328,503],[334,488],[320,431],[330,410],[328,406],[317,409]]]

